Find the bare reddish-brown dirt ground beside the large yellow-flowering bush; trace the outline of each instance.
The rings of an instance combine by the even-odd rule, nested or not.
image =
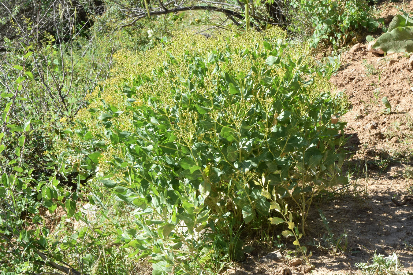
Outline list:
[[[413,1],[385,1],[379,8],[386,24],[400,14],[397,6],[413,11]],[[315,268],[279,252],[266,256],[257,251],[259,256],[227,274],[357,274],[356,263],[369,261],[374,253],[394,252],[403,271],[413,273],[413,200],[406,196],[413,195],[413,58],[373,54],[367,44],[345,52],[330,80],[351,104],[340,119],[347,122],[348,149],[354,153],[345,165],[351,185],[309,213],[306,245]],[[385,96],[391,113],[385,112]]]

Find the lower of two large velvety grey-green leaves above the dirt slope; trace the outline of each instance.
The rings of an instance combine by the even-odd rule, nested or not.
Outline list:
[[[413,26],[399,27],[389,33],[383,33],[373,48],[380,48],[388,54],[413,52]]]

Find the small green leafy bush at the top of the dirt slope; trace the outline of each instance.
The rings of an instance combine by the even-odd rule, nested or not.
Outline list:
[[[356,30],[375,31],[380,26],[366,1],[292,0],[290,3],[297,12],[291,15],[294,25],[313,30],[310,45],[314,48],[320,41],[328,41],[337,49],[349,42]]]

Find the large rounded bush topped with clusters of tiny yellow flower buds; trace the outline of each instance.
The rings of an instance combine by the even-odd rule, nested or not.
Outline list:
[[[304,222],[309,198],[345,182],[344,123],[332,120],[342,110],[323,91],[337,64],[314,63],[278,28],[181,33],[161,47],[115,56],[116,77],[79,112],[78,133],[106,144],[101,182],[135,208],[118,237],[131,256],[216,272],[249,251],[249,223],[268,223],[268,192]]]

